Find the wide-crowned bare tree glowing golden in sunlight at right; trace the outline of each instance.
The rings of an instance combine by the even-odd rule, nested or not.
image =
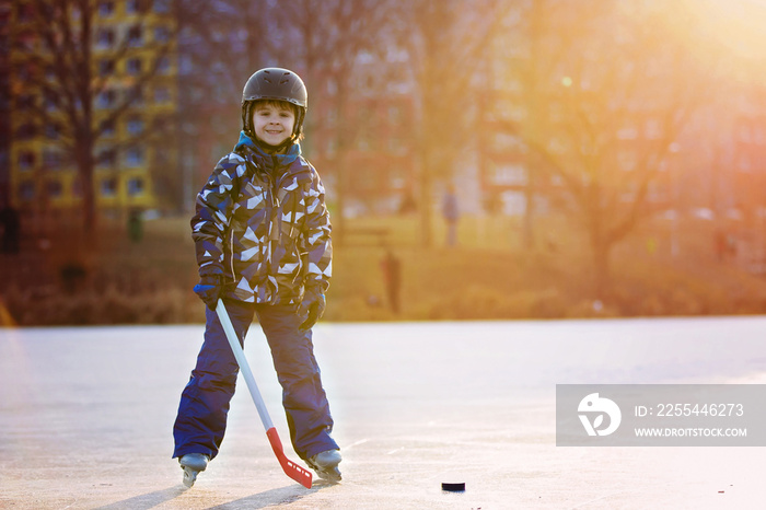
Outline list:
[[[501,123],[531,152],[535,182],[547,183],[541,193],[560,193],[587,232],[599,295],[612,248],[668,207],[661,176],[677,172],[678,137],[707,98],[693,59],[660,22],[663,9],[672,7],[535,0],[520,68],[534,111]]]

